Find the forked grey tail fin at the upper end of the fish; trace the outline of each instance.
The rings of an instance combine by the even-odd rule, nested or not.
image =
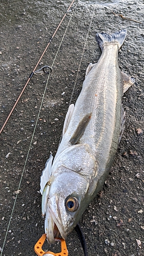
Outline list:
[[[125,41],[126,35],[127,35],[126,29],[122,29],[118,32],[115,32],[112,35],[102,32],[102,33],[96,34],[96,40],[102,51],[104,49],[105,42],[118,42],[118,46],[120,48]]]

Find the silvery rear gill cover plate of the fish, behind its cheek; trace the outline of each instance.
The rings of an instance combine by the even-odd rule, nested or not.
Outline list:
[[[76,144],[67,147],[54,159],[52,175],[72,171],[90,181],[96,176],[96,160],[88,144]]]

